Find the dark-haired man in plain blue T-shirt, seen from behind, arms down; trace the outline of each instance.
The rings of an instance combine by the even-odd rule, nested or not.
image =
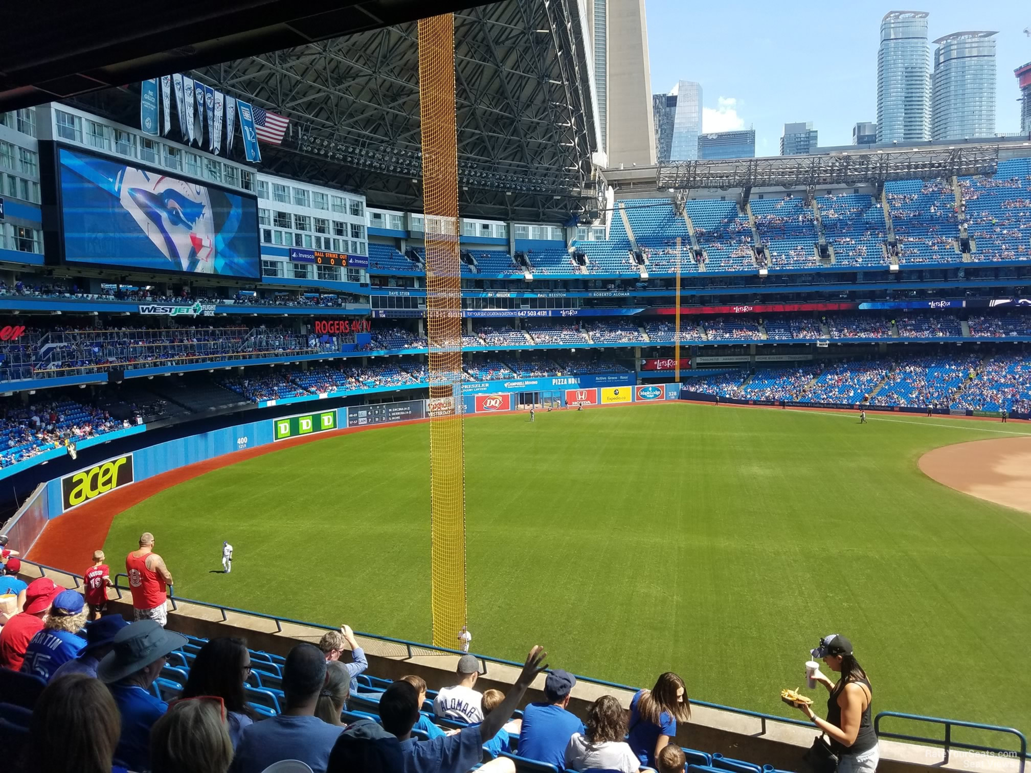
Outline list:
[[[262,773],[282,760],[300,760],[314,773],[326,773],[343,728],[314,715],[325,685],[326,658],[319,647],[298,644],[291,649],[282,668],[282,713],[243,729],[232,773]]]

